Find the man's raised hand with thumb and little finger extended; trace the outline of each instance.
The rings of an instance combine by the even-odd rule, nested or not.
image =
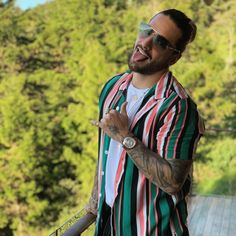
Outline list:
[[[110,110],[100,122],[92,121],[92,124],[100,127],[110,138],[122,143],[124,137],[129,134],[127,102],[121,106],[120,112]]]

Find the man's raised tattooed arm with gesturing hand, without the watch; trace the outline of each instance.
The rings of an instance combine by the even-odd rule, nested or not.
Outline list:
[[[99,126],[112,139],[122,143],[130,136],[128,127],[127,102],[121,106],[121,112],[111,110],[99,122]],[[133,135],[132,135],[133,136]],[[163,159],[148,149],[141,141],[131,150],[127,150],[138,169],[154,184],[169,194],[177,193],[190,171],[192,160]]]

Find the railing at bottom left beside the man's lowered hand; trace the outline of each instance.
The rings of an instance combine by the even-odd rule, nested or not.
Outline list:
[[[49,236],[79,236],[94,223],[96,216],[84,210],[70,218]]]

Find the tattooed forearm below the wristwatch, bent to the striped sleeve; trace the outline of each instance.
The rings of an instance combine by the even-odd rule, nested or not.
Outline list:
[[[140,141],[127,153],[146,178],[169,194],[181,189],[192,164],[191,160],[163,159]]]

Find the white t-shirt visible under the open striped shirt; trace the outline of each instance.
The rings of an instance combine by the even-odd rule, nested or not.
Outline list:
[[[127,90],[127,114],[129,117],[129,125],[131,124],[134,115],[138,111],[145,94],[148,92],[146,89],[135,88],[131,83]],[[115,186],[115,176],[119,164],[120,155],[122,152],[122,144],[111,139],[110,146],[108,150],[107,165],[106,165],[106,183],[105,183],[105,193],[106,193],[106,203],[112,207],[114,201],[114,186]]]

